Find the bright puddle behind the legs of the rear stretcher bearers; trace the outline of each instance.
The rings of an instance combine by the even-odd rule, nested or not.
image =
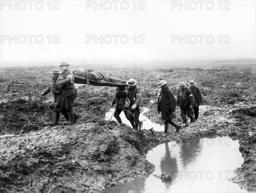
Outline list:
[[[116,118],[113,116],[115,111],[115,108],[111,108],[110,111],[108,111],[105,114],[105,120],[111,120],[111,121],[116,121]],[[147,129],[149,130],[150,128],[153,128],[154,131],[164,131],[164,125],[162,124],[158,124],[158,123],[154,123],[151,122],[145,115],[143,115],[143,113],[148,112],[149,109],[148,108],[143,108],[142,111],[140,111],[140,120],[143,121],[143,126],[142,129]],[[124,112],[122,111],[122,113],[119,115],[120,118],[122,119],[122,122],[130,127],[131,123],[128,121],[128,119],[126,119]],[[116,121],[117,122],[117,121]]]

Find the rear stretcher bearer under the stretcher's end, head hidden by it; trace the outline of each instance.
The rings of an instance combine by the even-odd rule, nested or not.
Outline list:
[[[127,91],[125,90],[125,86],[116,88],[116,94],[115,94],[115,97],[113,98],[111,105],[113,107],[113,105],[116,104],[114,117],[120,124],[122,124],[122,120],[119,115],[122,113],[122,111],[124,111],[126,97],[127,97]],[[124,111],[124,114],[127,118],[127,111]]]

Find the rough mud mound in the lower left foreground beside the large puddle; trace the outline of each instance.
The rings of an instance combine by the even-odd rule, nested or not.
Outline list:
[[[16,141],[3,140],[0,190],[101,192],[153,170],[141,155],[147,148],[143,134],[128,126],[106,126],[46,127],[29,138],[18,135]]]

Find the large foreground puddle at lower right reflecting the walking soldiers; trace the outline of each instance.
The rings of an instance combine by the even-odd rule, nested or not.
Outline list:
[[[229,180],[234,176],[233,170],[244,162],[239,141],[229,137],[163,143],[149,150],[146,159],[155,165],[154,173],[110,187],[106,192],[247,192]],[[156,177],[162,173],[172,179]]]

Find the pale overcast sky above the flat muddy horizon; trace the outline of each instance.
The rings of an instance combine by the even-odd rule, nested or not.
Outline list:
[[[9,7],[9,1],[1,1],[1,65],[256,57],[255,0],[182,1],[187,10],[177,5],[180,1],[168,0],[97,1],[102,10],[94,7],[95,1],[85,0],[34,1],[31,10],[29,2],[15,2],[17,10]],[[31,44],[28,35],[33,35]],[[116,43],[115,35],[119,35]]]

